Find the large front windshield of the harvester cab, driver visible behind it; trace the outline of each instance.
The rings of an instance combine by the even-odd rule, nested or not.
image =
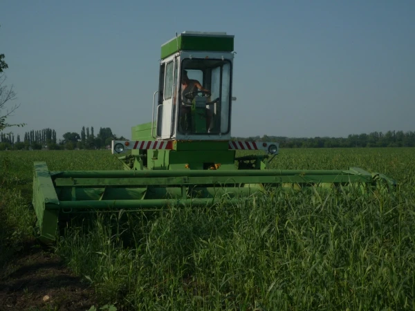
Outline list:
[[[184,59],[178,98],[178,131],[225,134],[229,131],[231,63],[221,59]]]

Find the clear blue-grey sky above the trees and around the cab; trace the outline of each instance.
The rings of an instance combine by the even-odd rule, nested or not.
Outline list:
[[[0,53],[21,104],[10,122],[130,138],[151,121],[160,46],[235,36],[232,135],[415,131],[415,1],[11,1]]]

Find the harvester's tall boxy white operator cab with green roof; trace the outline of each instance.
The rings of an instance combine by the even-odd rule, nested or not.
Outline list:
[[[156,140],[229,140],[233,35],[183,32],[163,44]]]

